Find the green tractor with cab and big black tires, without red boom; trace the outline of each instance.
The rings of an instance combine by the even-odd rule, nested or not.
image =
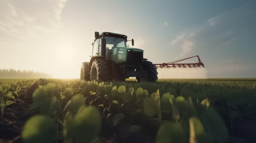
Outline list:
[[[129,48],[127,36],[111,32],[95,32],[92,58],[81,66],[81,80],[121,80],[136,77],[139,82],[155,82],[156,67],[143,57],[143,50]],[[134,45],[133,39],[132,45]]]

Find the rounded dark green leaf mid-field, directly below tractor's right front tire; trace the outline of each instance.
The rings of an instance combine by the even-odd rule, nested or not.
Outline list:
[[[143,101],[143,105],[144,113],[149,117],[156,115],[159,111],[159,105],[157,105],[156,100],[151,97],[146,97]]]

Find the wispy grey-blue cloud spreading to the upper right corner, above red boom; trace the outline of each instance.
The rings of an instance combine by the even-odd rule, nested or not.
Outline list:
[[[172,49],[182,49],[181,55],[203,53],[209,54],[209,57],[218,55],[233,58],[236,55],[234,52],[242,54],[245,53],[243,51],[248,51],[248,55],[251,55],[252,52],[249,51],[255,51],[249,46],[255,45],[255,14],[256,3],[249,1],[211,17],[205,23],[187,28],[179,33],[170,45]]]

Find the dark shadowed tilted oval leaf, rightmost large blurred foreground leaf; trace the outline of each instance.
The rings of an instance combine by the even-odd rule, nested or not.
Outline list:
[[[203,123],[209,135],[217,142],[227,142],[228,130],[225,123],[221,119],[220,114],[212,107],[209,107],[205,113],[202,114]]]

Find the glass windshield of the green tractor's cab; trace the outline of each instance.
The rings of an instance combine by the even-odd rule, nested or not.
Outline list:
[[[126,39],[105,36],[106,48],[126,47]]]

